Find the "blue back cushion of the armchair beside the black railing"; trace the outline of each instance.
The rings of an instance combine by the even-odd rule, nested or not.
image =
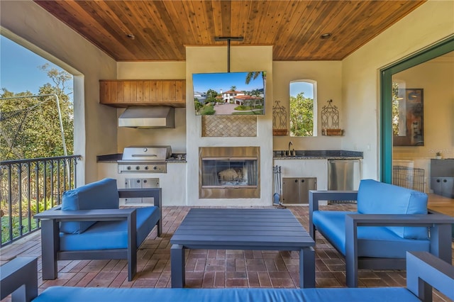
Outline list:
[[[62,210],[93,210],[103,208],[118,208],[120,199],[116,179],[102,179],[79,188],[65,191],[62,198]],[[80,234],[96,221],[62,222],[60,232]]]

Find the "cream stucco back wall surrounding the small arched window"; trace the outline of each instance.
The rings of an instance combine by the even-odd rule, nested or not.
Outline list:
[[[273,136],[274,150],[287,150],[289,141],[293,142],[295,150],[340,150],[341,136],[321,135],[321,109],[327,106],[329,99],[339,110],[340,126],[343,128],[342,113],[342,62],[340,61],[312,61],[312,62],[273,62],[273,100],[279,100],[280,105],[287,109],[287,127],[289,125],[289,84],[299,79],[316,81],[317,99],[317,135],[314,137],[299,138],[289,135]],[[273,106],[274,106],[273,101]],[[345,133],[348,135],[348,133]]]

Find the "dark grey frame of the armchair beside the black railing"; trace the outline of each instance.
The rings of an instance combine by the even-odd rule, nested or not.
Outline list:
[[[153,197],[154,206],[160,211],[157,222],[157,236],[162,233],[162,189],[118,189],[119,198]],[[43,256],[43,280],[57,278],[57,260],[81,259],[127,259],[128,281],[132,281],[137,272],[137,242],[135,208],[58,211],[60,206],[52,210],[38,213],[34,218],[41,220],[41,250]],[[60,222],[61,221],[128,221],[128,248],[115,250],[60,250]]]

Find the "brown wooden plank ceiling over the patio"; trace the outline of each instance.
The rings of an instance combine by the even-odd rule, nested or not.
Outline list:
[[[424,1],[35,0],[117,61],[182,61],[187,45],[239,36],[276,61],[343,60]]]

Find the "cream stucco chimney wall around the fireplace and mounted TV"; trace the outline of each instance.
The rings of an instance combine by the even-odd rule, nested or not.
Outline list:
[[[195,115],[192,74],[227,72],[227,47],[186,47],[187,204],[189,206],[272,205],[272,47],[231,47],[231,72],[266,71],[265,115],[258,116],[257,136],[202,138],[201,116]],[[260,198],[199,198],[199,147],[260,147]]]

